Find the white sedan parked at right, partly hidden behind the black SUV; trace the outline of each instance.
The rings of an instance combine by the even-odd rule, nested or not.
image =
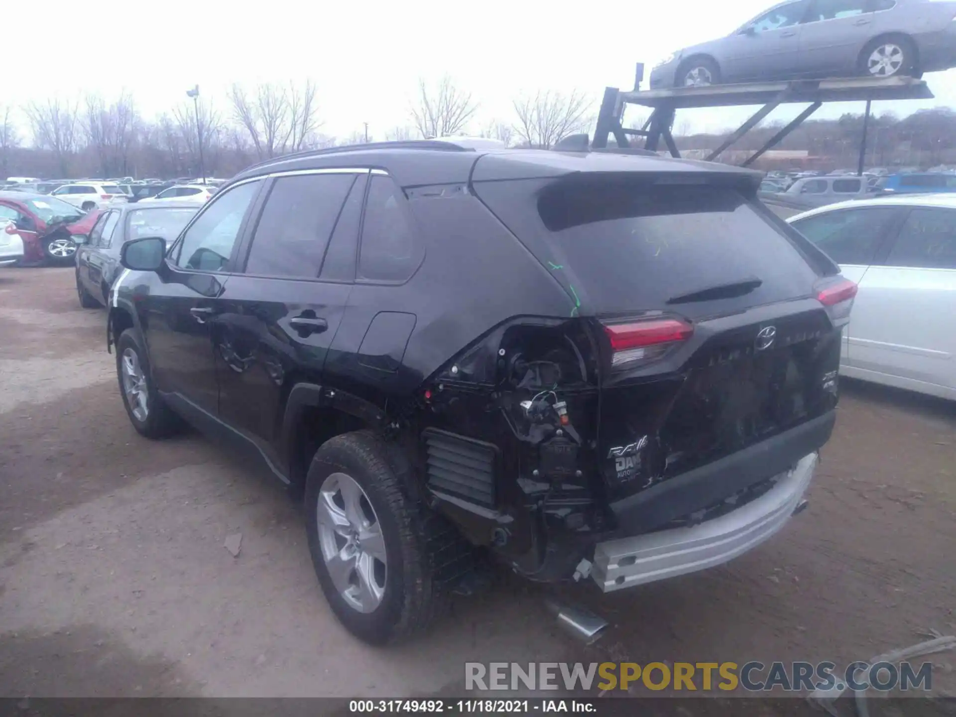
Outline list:
[[[787,221],[859,286],[840,373],[956,400],[956,195],[842,202]]]

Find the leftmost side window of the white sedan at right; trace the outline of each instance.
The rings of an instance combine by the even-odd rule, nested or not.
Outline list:
[[[791,226],[837,264],[866,267],[873,263],[883,230],[896,213],[892,206],[868,206],[816,214]]]

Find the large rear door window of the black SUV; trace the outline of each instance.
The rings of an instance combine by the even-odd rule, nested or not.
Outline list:
[[[246,273],[315,278],[354,174],[280,177],[252,237]]]

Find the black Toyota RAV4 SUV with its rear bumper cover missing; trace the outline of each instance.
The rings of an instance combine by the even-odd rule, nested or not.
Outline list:
[[[805,505],[856,285],[760,176],[445,141],[250,167],[122,248],[126,410],[304,494],[359,638],[490,555],[607,592],[714,565]]]

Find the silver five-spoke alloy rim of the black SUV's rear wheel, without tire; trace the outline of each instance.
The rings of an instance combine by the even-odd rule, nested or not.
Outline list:
[[[338,594],[359,613],[371,613],[385,596],[385,540],[375,509],[355,479],[333,473],[316,506],[325,567]]]

